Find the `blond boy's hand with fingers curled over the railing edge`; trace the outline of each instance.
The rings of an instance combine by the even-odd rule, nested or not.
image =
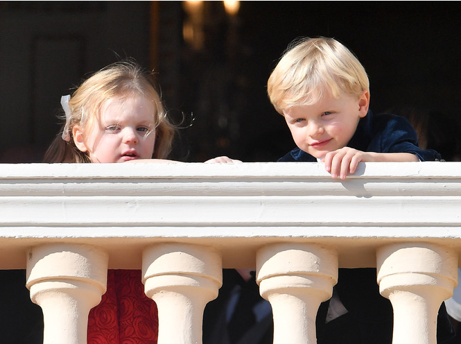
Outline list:
[[[365,162],[366,155],[361,150],[343,147],[327,153],[323,162],[331,177],[345,179],[347,173],[353,174],[356,171],[359,162]]]

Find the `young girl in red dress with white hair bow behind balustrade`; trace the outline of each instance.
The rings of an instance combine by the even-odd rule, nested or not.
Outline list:
[[[65,123],[44,162],[162,162],[171,151],[175,127],[150,74],[134,62],[101,69],[61,104]],[[144,294],[141,270],[108,270],[107,292],[89,313],[87,343],[157,343],[157,329],[157,307]]]

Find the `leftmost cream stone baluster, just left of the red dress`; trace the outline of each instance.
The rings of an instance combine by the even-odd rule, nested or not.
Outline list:
[[[28,252],[26,286],[42,307],[44,344],[86,344],[88,313],[101,302],[107,254],[93,246],[55,243]]]

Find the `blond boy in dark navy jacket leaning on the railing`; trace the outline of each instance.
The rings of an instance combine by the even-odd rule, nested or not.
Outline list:
[[[403,117],[372,115],[365,69],[331,38],[295,42],[272,71],[268,94],[298,147],[279,161],[323,161],[333,178],[344,179],[359,162],[440,160],[418,148]]]

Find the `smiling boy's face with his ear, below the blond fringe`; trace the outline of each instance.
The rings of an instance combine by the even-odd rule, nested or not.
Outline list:
[[[347,146],[356,132],[358,121],[368,111],[369,93],[356,98],[327,94],[318,103],[284,110],[284,117],[296,145],[323,159],[325,154]]]

